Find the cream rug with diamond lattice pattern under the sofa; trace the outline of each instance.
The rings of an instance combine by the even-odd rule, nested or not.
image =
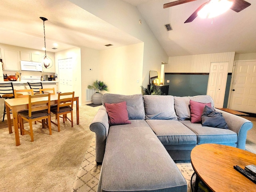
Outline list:
[[[190,192],[190,179],[194,173],[191,163],[188,161],[179,161],[176,165],[186,179],[188,192]],[[101,165],[97,165],[95,161],[94,136],[84,156],[84,160],[82,161],[71,192],[96,192],[100,177],[100,169]]]

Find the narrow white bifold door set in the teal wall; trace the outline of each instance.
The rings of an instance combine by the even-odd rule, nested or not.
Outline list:
[[[227,77],[228,62],[211,63],[207,95],[214,100],[214,107],[223,107]]]

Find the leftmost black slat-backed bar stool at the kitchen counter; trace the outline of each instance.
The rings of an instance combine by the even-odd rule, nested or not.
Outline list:
[[[22,94],[18,93],[18,95],[22,95]],[[0,83],[0,98],[4,98],[4,99],[14,98],[14,90],[13,90],[12,82]],[[2,121],[4,121],[5,114],[6,114],[6,106],[4,104],[4,115],[3,115]]]

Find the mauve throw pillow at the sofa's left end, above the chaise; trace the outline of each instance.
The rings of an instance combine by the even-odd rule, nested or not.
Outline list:
[[[128,118],[128,112],[125,101],[112,104],[105,103],[105,107],[108,113],[108,123],[110,126],[131,124]]]

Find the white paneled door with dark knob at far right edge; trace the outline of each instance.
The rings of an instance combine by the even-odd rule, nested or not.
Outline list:
[[[235,62],[229,108],[256,113],[256,60]]]

